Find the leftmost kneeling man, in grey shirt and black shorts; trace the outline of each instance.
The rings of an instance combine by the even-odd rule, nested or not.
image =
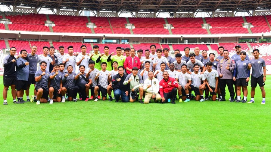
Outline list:
[[[45,61],[40,62],[40,70],[35,73],[37,91],[37,105],[48,102],[48,79],[50,72],[46,70],[47,63]]]

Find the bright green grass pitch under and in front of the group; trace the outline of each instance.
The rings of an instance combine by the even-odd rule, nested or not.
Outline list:
[[[266,105],[78,101],[0,105],[1,151],[271,151]],[[3,79],[0,77],[3,84]],[[1,92],[3,86],[0,87]],[[248,100],[250,100],[250,87]],[[31,88],[30,95],[33,92]],[[227,93],[229,99],[229,93]],[[2,96],[0,101],[3,101]]]

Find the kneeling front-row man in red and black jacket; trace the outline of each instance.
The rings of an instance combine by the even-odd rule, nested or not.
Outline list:
[[[175,98],[177,95],[178,82],[176,79],[169,77],[168,72],[163,72],[163,77],[159,83],[160,95],[162,97],[162,103],[170,102],[175,104]]]

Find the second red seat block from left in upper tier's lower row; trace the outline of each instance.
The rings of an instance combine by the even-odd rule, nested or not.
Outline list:
[[[65,32],[65,33],[92,33],[91,29],[86,26],[63,26],[58,25],[52,27],[54,32]]]

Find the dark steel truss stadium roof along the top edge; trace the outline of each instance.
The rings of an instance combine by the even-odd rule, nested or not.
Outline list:
[[[271,9],[270,0],[1,0],[0,4],[117,12],[207,12]]]

